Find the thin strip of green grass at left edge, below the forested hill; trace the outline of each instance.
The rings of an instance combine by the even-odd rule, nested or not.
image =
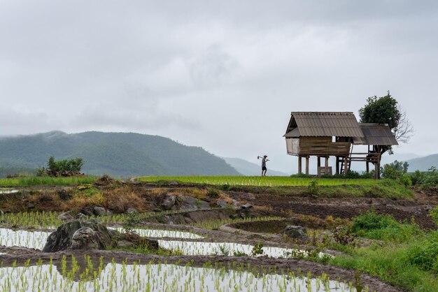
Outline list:
[[[92,184],[97,177],[14,177],[0,179],[0,187],[70,186]]]

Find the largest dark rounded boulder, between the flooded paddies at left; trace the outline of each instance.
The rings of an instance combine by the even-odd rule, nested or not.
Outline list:
[[[76,233],[76,231],[80,229],[81,231]],[[87,240],[89,240],[90,243],[85,242]],[[62,224],[55,232],[48,236],[43,252],[71,249],[73,248],[73,242],[75,242],[75,249],[106,249],[106,247],[111,247],[113,244],[111,234],[103,224],[99,224],[94,220],[73,220],[69,223]]]

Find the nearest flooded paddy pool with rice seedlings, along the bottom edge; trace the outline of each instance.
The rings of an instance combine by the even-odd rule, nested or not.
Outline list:
[[[64,275],[64,276],[63,276]],[[90,275],[92,275],[90,277]],[[83,279],[83,280],[79,280]],[[355,291],[326,277],[255,275],[244,270],[171,264],[109,263],[88,275],[68,276],[55,265],[0,268],[1,291]]]

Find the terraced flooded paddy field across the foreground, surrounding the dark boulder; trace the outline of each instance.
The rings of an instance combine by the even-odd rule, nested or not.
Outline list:
[[[400,291],[358,272],[352,260],[368,247],[385,250],[386,240],[359,238],[346,226],[359,209],[373,208],[400,221],[414,217],[419,228],[434,226],[425,205],[409,198],[316,199],[296,196],[295,189],[290,196],[263,190],[124,183],[2,194],[0,290]],[[158,250],[42,251],[52,232],[75,220],[155,240]]]

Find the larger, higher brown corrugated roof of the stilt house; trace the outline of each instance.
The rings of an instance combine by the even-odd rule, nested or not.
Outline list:
[[[291,115],[300,136],[364,136],[353,112],[292,112]],[[286,135],[292,130],[288,128]]]

